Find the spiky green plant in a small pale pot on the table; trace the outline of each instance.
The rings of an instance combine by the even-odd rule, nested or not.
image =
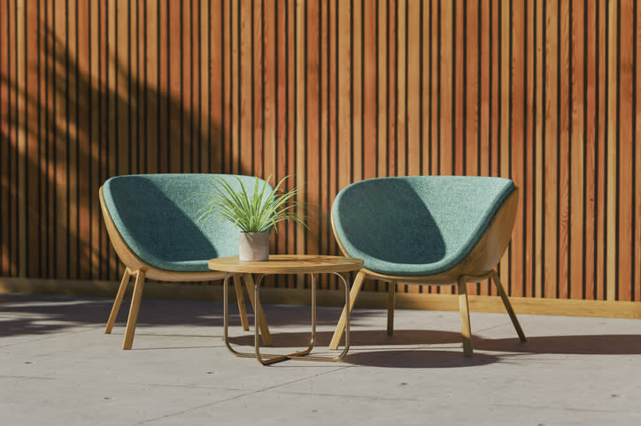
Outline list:
[[[272,191],[267,183],[269,175],[260,186],[256,178],[253,194],[247,192],[243,180],[236,177],[240,184],[240,191],[236,191],[228,181],[214,177],[215,196],[211,203],[203,209],[201,220],[212,217],[226,219],[238,228],[238,257],[241,261],[266,261],[269,259],[269,232],[283,220],[305,224],[305,214],[300,210],[303,207],[296,202],[298,189],[295,187],[289,192],[282,190],[282,184],[289,176],[278,182]]]

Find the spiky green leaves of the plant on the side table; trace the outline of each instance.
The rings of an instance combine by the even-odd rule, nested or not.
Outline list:
[[[278,182],[274,191],[267,193],[267,181],[259,187],[259,179],[256,178],[254,192],[249,195],[243,180],[236,177],[240,183],[241,190],[236,191],[229,183],[220,179],[214,179],[214,197],[212,201],[201,209],[199,220],[206,221],[217,217],[227,219],[229,222],[240,228],[243,232],[268,232],[274,228],[278,232],[276,224],[286,221],[294,221],[307,228],[304,207],[296,202],[298,189],[294,188],[289,192],[282,190],[282,184],[289,176],[285,176]]]

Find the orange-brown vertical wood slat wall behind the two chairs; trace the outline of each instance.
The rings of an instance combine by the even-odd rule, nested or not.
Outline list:
[[[118,174],[290,175],[317,225],[274,250],[328,254],[350,182],[468,174],[521,187],[510,294],[641,300],[640,19],[634,0],[0,0],[0,275],[118,278],[97,202]]]

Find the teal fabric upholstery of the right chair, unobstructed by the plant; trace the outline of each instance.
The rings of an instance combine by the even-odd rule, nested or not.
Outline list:
[[[368,270],[434,275],[463,260],[514,188],[472,176],[367,179],[336,195],[332,215],[347,254]]]

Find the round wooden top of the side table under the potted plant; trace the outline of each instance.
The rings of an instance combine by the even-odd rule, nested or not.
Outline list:
[[[350,272],[363,267],[363,261],[343,256],[270,255],[266,262],[239,261],[238,256],[209,261],[210,270],[258,274],[321,274]]]

